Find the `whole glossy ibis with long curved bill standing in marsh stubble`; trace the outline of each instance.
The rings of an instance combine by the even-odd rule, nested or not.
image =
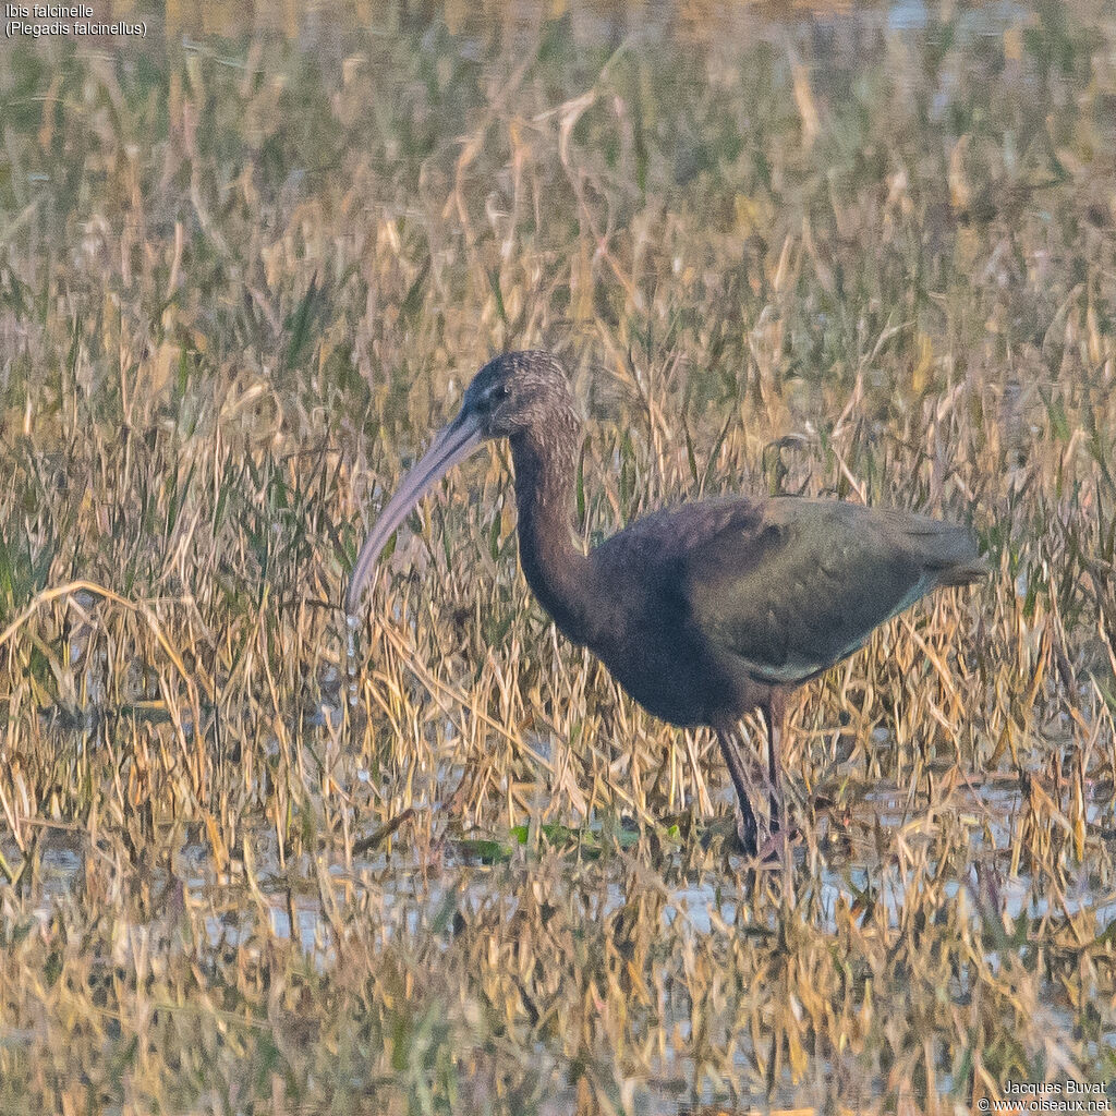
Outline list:
[[[487,439],[507,437],[516,470],[519,558],[539,603],[646,710],[710,725],[740,801],[738,833],[758,845],[740,719],[768,735],[771,827],[780,824],[779,735],[787,692],[860,647],[878,624],[985,566],[963,527],[925,516],[795,497],[724,497],[638,520],[588,555],[571,500],[581,423],[549,353],[509,353],[473,378],[456,419],[403,480],[353,568],[355,613],[384,543],[422,496]]]

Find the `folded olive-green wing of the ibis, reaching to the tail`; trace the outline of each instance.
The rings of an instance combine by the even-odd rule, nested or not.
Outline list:
[[[679,556],[691,622],[768,683],[819,674],[979,565],[964,528],[834,500],[742,502],[702,536]]]

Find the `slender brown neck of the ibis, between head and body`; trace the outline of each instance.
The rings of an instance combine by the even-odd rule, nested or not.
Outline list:
[[[580,423],[573,407],[511,440],[519,561],[535,596],[571,641],[591,631],[591,562],[575,542],[573,492]]]

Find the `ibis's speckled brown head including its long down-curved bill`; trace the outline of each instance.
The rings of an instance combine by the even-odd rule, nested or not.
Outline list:
[[[545,430],[552,419],[573,413],[569,382],[550,353],[506,353],[484,365],[465,388],[458,416],[434,435],[365,539],[349,580],[349,613],[356,610],[373,564],[392,532],[454,465],[490,439],[514,442],[528,432]]]

